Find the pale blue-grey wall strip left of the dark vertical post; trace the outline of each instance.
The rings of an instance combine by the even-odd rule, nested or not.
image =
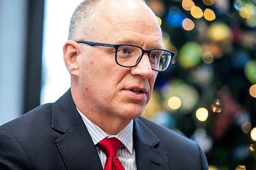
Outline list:
[[[0,1],[0,125],[22,115],[27,0]]]

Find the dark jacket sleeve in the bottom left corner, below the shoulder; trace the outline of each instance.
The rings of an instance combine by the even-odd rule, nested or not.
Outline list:
[[[0,169],[33,169],[28,156],[14,136],[0,130]]]

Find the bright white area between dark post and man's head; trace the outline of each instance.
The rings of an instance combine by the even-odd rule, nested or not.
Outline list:
[[[68,40],[71,16],[82,0],[45,0],[40,103],[55,102],[70,87],[62,47]]]

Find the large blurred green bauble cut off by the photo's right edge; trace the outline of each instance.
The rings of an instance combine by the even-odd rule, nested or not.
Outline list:
[[[246,78],[253,84],[256,84],[256,60],[250,60],[246,63],[245,68]]]

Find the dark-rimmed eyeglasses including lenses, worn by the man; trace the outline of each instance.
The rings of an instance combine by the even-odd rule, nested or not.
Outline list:
[[[147,54],[151,68],[155,71],[165,71],[175,55],[163,49],[154,48],[152,50],[144,50],[140,46],[130,44],[106,44],[91,41],[76,41],[77,43],[85,43],[91,46],[107,46],[115,48],[116,63],[122,67],[135,67],[139,64],[144,54]]]

